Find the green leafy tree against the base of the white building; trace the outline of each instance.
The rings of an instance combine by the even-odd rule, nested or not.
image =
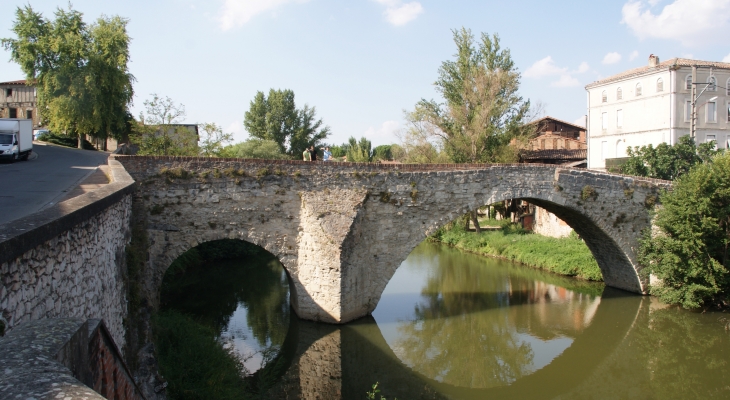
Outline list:
[[[661,143],[657,147],[638,146],[626,149],[629,159],[620,171],[627,175],[674,180],[686,174],[696,164],[708,162],[721,150],[715,143],[695,145],[689,136],[682,136],[674,146]]]

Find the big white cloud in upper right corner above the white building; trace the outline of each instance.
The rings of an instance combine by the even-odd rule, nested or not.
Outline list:
[[[674,0],[655,13],[657,0],[629,0],[621,23],[639,39],[677,40],[684,46],[722,41],[730,29],[730,0]]]

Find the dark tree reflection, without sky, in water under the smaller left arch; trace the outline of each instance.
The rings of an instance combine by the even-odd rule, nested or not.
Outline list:
[[[242,305],[254,337],[265,347],[267,342],[278,346],[284,341],[288,292],[282,265],[261,251],[242,260],[202,261],[168,273],[160,301],[161,308],[192,315],[217,332],[228,326],[231,315]]]

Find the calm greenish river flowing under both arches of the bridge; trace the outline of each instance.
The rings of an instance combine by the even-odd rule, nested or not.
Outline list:
[[[376,382],[401,400],[730,398],[725,313],[424,242],[371,317],[335,326],[290,311],[271,257],[213,264],[167,284],[164,309],[215,332],[265,398],[365,399]]]

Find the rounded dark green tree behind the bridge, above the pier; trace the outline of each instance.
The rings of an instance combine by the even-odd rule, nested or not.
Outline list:
[[[305,105],[298,110],[291,90],[257,92],[246,112],[243,125],[257,139],[275,142],[282,153],[298,157],[309,146],[318,147],[329,136],[328,126],[315,117],[316,109]]]

